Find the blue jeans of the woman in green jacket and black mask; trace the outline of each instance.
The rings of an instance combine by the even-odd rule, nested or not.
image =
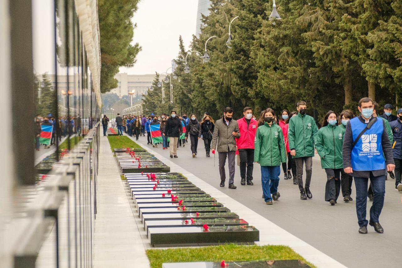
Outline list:
[[[265,202],[272,201],[271,194],[278,192],[280,174],[281,166],[261,166],[261,185]]]

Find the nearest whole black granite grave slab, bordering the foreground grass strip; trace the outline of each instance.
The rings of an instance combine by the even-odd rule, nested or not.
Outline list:
[[[155,227],[148,228],[148,237],[153,246],[254,243],[259,231],[253,226]]]

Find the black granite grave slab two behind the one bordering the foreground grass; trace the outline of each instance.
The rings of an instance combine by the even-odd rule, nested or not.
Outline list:
[[[158,214],[143,214],[143,224],[145,228],[146,221],[166,221],[166,220],[190,220],[190,219],[239,219],[239,215],[233,212],[197,212],[190,213],[158,213]],[[190,220],[191,221],[191,220]]]

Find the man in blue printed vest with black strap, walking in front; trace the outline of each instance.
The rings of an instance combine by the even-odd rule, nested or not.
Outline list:
[[[345,173],[355,177],[359,233],[367,233],[367,224],[373,226],[377,233],[384,233],[379,224],[379,215],[384,206],[385,172],[395,168],[392,147],[384,121],[372,116],[373,100],[361,99],[358,109],[361,115],[349,120],[346,125],[342,147],[343,169]],[[374,200],[368,222],[366,208],[369,179]]]

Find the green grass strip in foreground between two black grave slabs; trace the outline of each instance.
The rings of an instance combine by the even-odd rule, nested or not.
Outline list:
[[[301,260],[316,267],[283,245],[236,245],[224,244],[208,247],[182,247],[172,249],[148,249],[146,251],[152,268],[161,268],[164,262],[247,262],[258,260]]]

